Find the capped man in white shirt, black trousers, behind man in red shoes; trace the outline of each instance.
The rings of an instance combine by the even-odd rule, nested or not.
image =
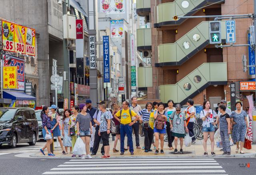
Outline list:
[[[100,106],[101,104],[105,104],[104,101],[100,101],[97,103],[98,106]],[[110,111],[108,111],[111,118],[113,118],[112,114]],[[95,134],[94,134],[94,144],[93,144],[93,147],[92,147],[92,153],[91,155],[96,155],[98,149],[99,149],[99,145],[100,145],[100,139],[101,139],[101,136],[99,136],[98,132],[99,132],[99,129],[100,129],[100,115],[101,115],[101,111],[99,109],[96,110],[96,112],[94,113],[94,116],[93,116],[93,120],[94,120],[94,123],[96,124],[96,128],[95,128]],[[105,151],[104,151],[104,146],[101,147],[101,151],[102,155],[105,154]]]

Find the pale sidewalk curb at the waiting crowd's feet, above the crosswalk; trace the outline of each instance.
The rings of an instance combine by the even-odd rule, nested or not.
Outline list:
[[[47,155],[37,155],[38,153],[36,154],[31,154],[29,155],[30,157],[36,157],[36,158],[46,158],[46,159],[81,159],[80,157],[60,157],[60,156],[55,156],[55,157],[48,157]],[[203,155],[175,155],[175,156],[159,156],[159,155],[156,155],[156,156],[146,156],[146,155],[143,155],[143,156],[132,156],[132,155],[124,155],[124,156],[111,156],[110,158],[115,158],[115,159],[127,159],[127,158],[189,158],[189,157],[193,157],[193,158],[203,158],[205,156]],[[244,154],[234,154],[231,156],[223,156],[223,155],[216,155],[216,156],[211,156],[209,155],[208,157],[205,157],[205,158],[254,158],[256,157],[256,153],[244,153]],[[100,159],[100,156],[96,156],[96,157],[92,157],[93,159]]]

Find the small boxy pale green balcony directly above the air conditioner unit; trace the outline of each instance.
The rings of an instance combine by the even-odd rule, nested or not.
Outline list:
[[[137,50],[151,50],[151,28],[137,29]]]

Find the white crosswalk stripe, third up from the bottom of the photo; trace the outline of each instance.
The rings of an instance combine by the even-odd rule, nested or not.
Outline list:
[[[127,165],[127,163],[122,163],[122,164],[116,164],[113,162],[113,164],[102,164],[100,165],[100,167],[106,167],[106,166],[136,166],[138,165],[138,163],[129,163]],[[220,165],[219,163],[140,163],[141,166],[143,165]],[[67,166],[72,166],[72,167],[95,167],[95,164],[92,164],[92,165],[88,165],[88,164],[85,164],[85,165],[58,165],[58,167],[67,167]],[[99,166],[97,166],[99,167]]]

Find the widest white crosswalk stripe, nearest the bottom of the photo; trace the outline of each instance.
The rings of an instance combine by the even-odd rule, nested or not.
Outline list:
[[[48,171],[43,174],[129,174],[129,173],[208,173],[209,169],[198,169],[198,170],[146,170],[146,171]],[[225,170],[214,170],[215,173],[226,173]],[[202,175],[202,174],[200,174]],[[207,174],[209,175],[209,174]],[[217,175],[217,174],[215,174]]]

